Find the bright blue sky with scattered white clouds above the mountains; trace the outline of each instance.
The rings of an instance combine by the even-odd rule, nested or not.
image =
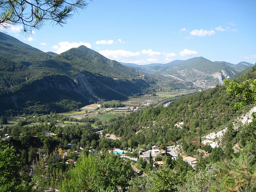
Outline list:
[[[46,23],[30,36],[7,34],[42,51],[85,45],[107,58],[138,65],[203,56],[256,62],[256,1],[93,0],[63,27]]]

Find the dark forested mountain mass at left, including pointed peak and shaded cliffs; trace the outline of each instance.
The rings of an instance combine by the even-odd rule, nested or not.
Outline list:
[[[0,34],[0,113],[74,110],[152,92],[156,79],[85,47],[56,55]]]

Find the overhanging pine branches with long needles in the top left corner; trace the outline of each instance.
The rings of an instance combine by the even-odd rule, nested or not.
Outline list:
[[[23,31],[29,33],[44,26],[47,20],[62,26],[72,12],[87,5],[85,0],[0,0],[0,26],[22,24]]]

